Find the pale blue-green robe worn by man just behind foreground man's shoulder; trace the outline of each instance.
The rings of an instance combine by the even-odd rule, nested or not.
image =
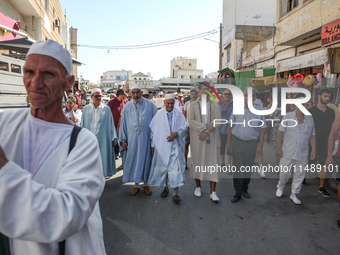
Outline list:
[[[118,142],[117,131],[113,124],[113,117],[110,107],[102,105],[99,116],[99,128],[94,132],[94,105],[85,106],[81,120],[81,126],[90,130],[97,137],[100,155],[103,165],[104,177],[112,176],[116,173],[115,153],[112,149],[112,141]]]

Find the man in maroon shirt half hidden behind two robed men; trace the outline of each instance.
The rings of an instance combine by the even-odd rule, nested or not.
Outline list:
[[[115,124],[117,134],[119,134],[119,124],[120,124],[120,119],[122,117],[122,112],[124,105],[126,104],[126,94],[125,91],[122,89],[118,89],[116,93],[116,97],[110,100],[107,103],[107,106],[110,107],[112,116],[113,116],[113,122]],[[116,154],[116,159],[118,159],[118,154],[119,154],[119,144],[115,145],[115,154]],[[118,170],[123,169],[123,165],[119,166],[117,168]]]

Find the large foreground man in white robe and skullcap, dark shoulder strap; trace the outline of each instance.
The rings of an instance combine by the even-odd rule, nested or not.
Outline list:
[[[31,108],[0,114],[0,247],[104,255],[98,143],[62,111],[74,82],[71,55],[53,40],[37,41],[23,71]]]

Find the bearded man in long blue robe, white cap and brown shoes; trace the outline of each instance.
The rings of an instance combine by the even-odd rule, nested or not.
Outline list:
[[[131,88],[132,100],[123,110],[120,121],[119,141],[120,154],[124,164],[123,182],[134,182],[135,187],[130,195],[139,192],[139,183],[144,181],[146,195],[152,190],[148,185],[151,164],[150,122],[157,112],[156,106],[142,97],[142,90],[138,84]]]

